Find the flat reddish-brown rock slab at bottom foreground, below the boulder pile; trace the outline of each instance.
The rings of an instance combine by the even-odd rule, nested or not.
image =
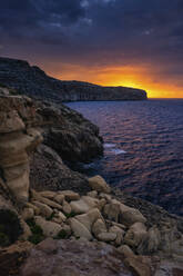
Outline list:
[[[131,270],[123,265],[121,255],[104,243],[57,240],[58,253],[54,250],[52,254],[47,252],[48,246],[44,249],[43,243],[42,250],[31,250],[21,267],[21,276],[132,276]]]

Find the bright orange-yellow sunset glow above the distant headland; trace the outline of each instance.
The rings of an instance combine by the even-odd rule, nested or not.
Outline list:
[[[173,85],[171,80],[155,78],[151,73],[151,69],[146,69],[143,66],[87,68],[78,65],[61,65],[60,68],[54,68],[49,73],[61,80],[79,80],[101,86],[140,88],[148,92],[149,98],[183,98],[183,88]],[[157,77],[160,78],[160,76]]]

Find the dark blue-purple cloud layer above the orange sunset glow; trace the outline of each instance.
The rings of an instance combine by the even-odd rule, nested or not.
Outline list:
[[[81,65],[146,63],[180,80],[182,0],[7,0],[2,55]],[[49,56],[48,56],[49,52]]]

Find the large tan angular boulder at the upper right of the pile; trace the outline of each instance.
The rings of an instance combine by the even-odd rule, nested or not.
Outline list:
[[[120,223],[124,224],[128,227],[130,227],[134,223],[145,224],[146,218],[138,209],[131,208],[123,204],[121,204],[120,206]]]

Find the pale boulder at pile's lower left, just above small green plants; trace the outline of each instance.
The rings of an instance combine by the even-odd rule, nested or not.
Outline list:
[[[40,216],[34,217],[35,224],[41,227],[43,230],[43,235],[45,237],[57,237],[60,230],[62,229],[61,225],[45,220],[44,218]]]

